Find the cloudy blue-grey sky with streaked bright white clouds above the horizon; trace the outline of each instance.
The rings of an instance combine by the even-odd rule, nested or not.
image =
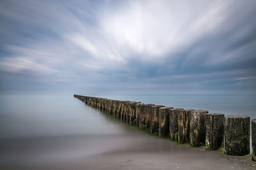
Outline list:
[[[256,94],[256,1],[0,1],[0,92]]]

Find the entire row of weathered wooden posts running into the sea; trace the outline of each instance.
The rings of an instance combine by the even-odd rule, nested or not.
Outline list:
[[[74,95],[84,103],[159,137],[207,150],[224,148],[227,155],[250,154],[250,117],[184,110],[163,105]],[[252,120],[252,159],[256,159],[256,119]]]

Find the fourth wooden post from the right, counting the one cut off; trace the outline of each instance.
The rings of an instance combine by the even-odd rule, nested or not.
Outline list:
[[[190,119],[190,145],[199,147],[205,144],[206,127],[205,115],[208,113],[206,110],[191,111]]]

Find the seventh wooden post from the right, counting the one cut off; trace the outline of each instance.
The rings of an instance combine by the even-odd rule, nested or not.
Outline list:
[[[169,110],[172,107],[159,108],[159,137],[170,136]]]

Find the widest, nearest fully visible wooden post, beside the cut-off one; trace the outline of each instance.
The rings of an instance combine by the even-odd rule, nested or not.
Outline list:
[[[225,117],[224,153],[243,156],[250,153],[250,117]]]

